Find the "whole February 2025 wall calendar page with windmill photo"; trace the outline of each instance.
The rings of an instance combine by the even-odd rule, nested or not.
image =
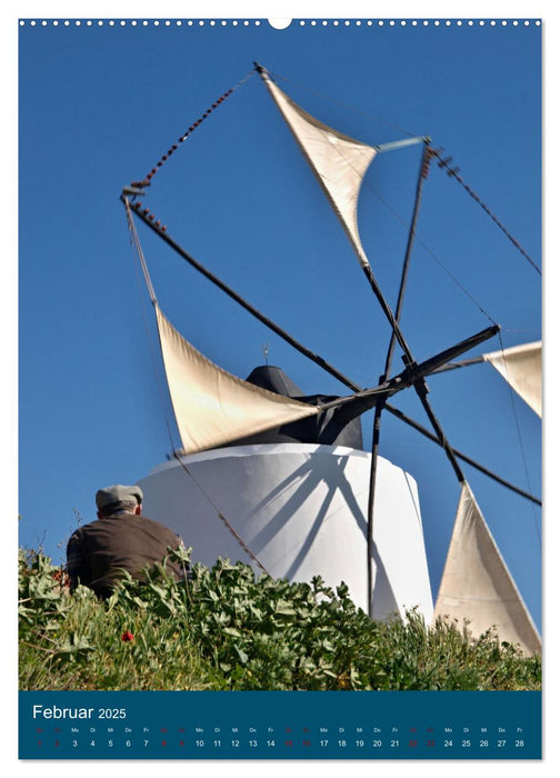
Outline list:
[[[540,760],[532,17],[29,17],[19,759]]]

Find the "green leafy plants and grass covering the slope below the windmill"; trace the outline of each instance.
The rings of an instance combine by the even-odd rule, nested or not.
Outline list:
[[[183,562],[188,552],[173,556]],[[289,584],[250,567],[162,565],[106,601],[40,552],[20,550],[20,689],[513,690],[539,689],[540,657],[490,630],[427,629],[416,611],[372,621],[320,578]]]

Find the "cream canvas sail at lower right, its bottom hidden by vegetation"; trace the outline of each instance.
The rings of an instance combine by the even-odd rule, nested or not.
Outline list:
[[[467,482],[463,482],[453,533],[433,611],[438,618],[469,621],[478,637],[496,626],[500,640],[540,654],[541,641],[526,605]]]

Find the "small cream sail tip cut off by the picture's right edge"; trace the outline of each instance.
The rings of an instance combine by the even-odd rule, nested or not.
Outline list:
[[[542,341],[484,353],[483,359],[542,417]]]

